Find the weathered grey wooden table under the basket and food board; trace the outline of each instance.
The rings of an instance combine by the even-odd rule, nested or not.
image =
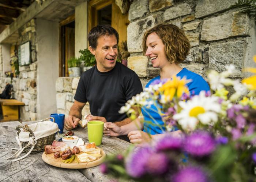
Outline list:
[[[34,122],[22,122],[32,124]],[[42,161],[42,153],[29,154],[20,161],[12,162],[5,159],[12,155],[11,148],[18,148],[16,142],[16,126],[20,122],[0,123],[0,181],[110,181],[111,178],[99,171],[99,166],[89,169],[63,169],[46,164]],[[88,141],[87,128],[78,126],[74,130],[75,136]],[[64,130],[64,132],[67,132]],[[57,139],[57,135],[56,135]],[[103,137],[101,147],[106,154],[123,153],[130,143],[116,137]],[[24,155],[24,153],[22,153]]]

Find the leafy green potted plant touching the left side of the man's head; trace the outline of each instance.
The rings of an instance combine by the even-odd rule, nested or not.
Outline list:
[[[84,50],[79,50],[81,54],[80,60],[84,62],[83,71],[89,70],[96,64],[96,59],[93,54],[86,48]]]

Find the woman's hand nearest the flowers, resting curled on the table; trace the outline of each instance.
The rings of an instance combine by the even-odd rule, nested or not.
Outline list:
[[[144,143],[151,140],[150,135],[141,130],[133,130],[128,133],[127,136],[131,143]]]

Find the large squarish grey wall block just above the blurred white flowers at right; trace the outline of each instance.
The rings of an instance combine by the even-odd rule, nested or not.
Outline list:
[[[246,43],[244,41],[210,45],[208,53],[209,69],[216,70],[221,73],[226,70],[226,65],[233,64],[236,67],[236,71],[230,77],[242,77],[245,46]]]

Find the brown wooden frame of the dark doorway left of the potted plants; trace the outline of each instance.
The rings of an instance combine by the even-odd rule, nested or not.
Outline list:
[[[61,63],[61,59],[62,59],[62,54],[61,54],[61,40],[62,40],[62,32],[61,32],[61,27],[63,25],[66,25],[66,24],[69,24],[71,23],[72,21],[75,21],[75,14],[71,15],[71,16],[68,16],[65,20],[63,21],[60,21],[59,23],[59,77],[61,77],[63,75],[63,71],[62,71],[62,68],[63,68],[63,65]],[[65,67],[67,68],[67,62],[65,62]]]

